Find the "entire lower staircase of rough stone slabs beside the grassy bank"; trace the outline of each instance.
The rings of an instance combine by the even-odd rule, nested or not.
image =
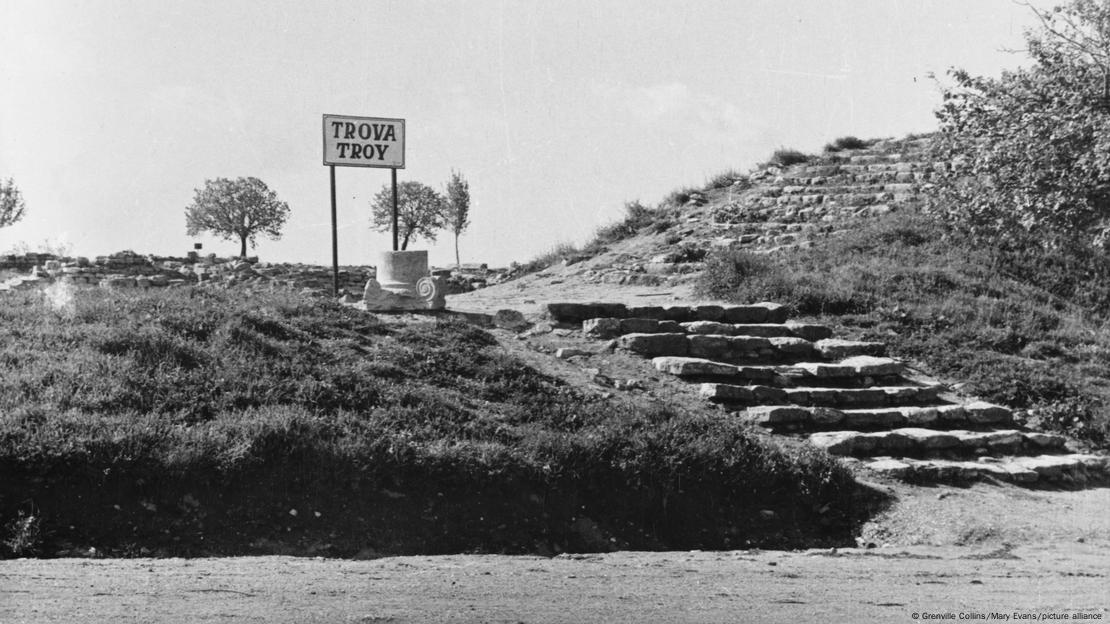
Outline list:
[[[828,326],[790,321],[778,304],[549,303],[546,311],[698,384],[734,417],[891,477],[1081,484],[1110,470],[1110,457],[1029,431],[1007,407],[951,394],[885,356],[881,343],[836,339]]]

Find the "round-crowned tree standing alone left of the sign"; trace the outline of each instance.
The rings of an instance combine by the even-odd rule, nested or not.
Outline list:
[[[238,238],[242,258],[246,243],[253,248],[259,234],[280,239],[289,219],[289,204],[258,178],[205,180],[204,188],[194,192],[193,203],[185,208],[185,231],[212,232],[229,241]]]

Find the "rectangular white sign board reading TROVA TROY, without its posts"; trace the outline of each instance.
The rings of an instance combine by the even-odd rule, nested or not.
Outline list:
[[[324,115],[324,164],[405,168],[405,120]]]

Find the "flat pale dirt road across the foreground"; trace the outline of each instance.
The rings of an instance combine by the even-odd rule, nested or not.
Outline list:
[[[0,565],[0,621],[912,622],[921,612],[1106,621],[1108,545],[26,560]]]

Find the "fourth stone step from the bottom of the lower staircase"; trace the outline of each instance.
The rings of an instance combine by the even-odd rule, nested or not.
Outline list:
[[[703,383],[702,396],[716,403],[740,405],[799,405],[810,407],[864,407],[864,406],[911,406],[916,404],[935,403],[941,391],[940,385],[894,385],[872,388],[773,388],[745,386],[725,383]],[[946,410],[949,406],[942,406]],[[950,411],[950,410],[949,410]],[[958,420],[941,421],[919,416],[918,422],[962,422]],[[902,422],[910,422],[908,415]]]

